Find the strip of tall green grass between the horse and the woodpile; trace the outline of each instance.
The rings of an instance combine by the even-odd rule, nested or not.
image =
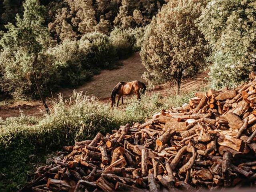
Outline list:
[[[21,115],[0,119],[0,191],[16,191],[17,186],[31,180],[35,166],[45,156],[63,145],[92,138],[98,132],[106,134],[122,124],[144,122],[155,112],[171,106],[181,106],[194,92],[162,97],[145,94],[138,102],[126,99],[126,105],[110,109],[94,97],[74,92],[68,100],[59,98],[52,114],[39,119]]]

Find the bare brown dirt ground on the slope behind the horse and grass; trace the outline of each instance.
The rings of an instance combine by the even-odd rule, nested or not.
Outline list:
[[[83,91],[86,94],[94,95],[102,102],[108,102],[110,93],[114,86],[120,81],[130,82],[139,80],[145,82],[141,75],[146,70],[140,60],[140,54],[137,52],[130,58],[121,61],[123,66],[118,70],[102,70],[99,75],[92,78],[90,82],[84,83],[82,86],[76,88],[77,91]],[[194,78],[189,78],[182,81],[181,91],[188,92],[195,90],[206,84],[205,77],[207,72],[200,73]],[[64,98],[70,97],[73,89],[61,89],[59,92]],[[156,86],[153,92],[160,92],[162,95],[167,96],[173,94],[173,89],[168,84]],[[57,94],[54,94],[56,97]],[[48,98],[51,100],[51,98]],[[0,107],[0,117],[7,118],[11,116],[19,116],[22,112],[25,115],[42,116],[42,103],[38,101],[18,101],[8,106]]]

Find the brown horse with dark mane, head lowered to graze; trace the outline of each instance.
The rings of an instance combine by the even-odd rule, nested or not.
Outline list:
[[[111,107],[114,108],[116,104],[116,94],[118,94],[118,100],[116,106],[118,106],[120,98],[122,98],[122,104],[124,104],[124,95],[136,94],[137,99],[140,100],[140,90],[142,93],[146,90],[146,85],[140,81],[132,82],[119,82],[111,92]]]

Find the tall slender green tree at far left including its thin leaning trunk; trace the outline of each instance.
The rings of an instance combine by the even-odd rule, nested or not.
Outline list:
[[[4,61],[2,64],[10,80],[19,76],[26,76],[30,80],[32,74],[38,94],[49,113],[38,82],[38,74],[44,66],[39,62],[39,56],[49,40],[47,28],[43,26],[45,8],[40,6],[38,0],[26,0],[23,8],[23,18],[16,16],[16,26],[10,23],[6,25],[8,31],[0,41],[3,47],[0,59]]]

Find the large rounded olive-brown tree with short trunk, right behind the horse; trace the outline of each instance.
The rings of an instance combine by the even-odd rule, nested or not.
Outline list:
[[[149,81],[172,81],[193,75],[207,54],[203,34],[195,26],[202,0],[177,0],[164,5],[145,31],[140,52]]]

